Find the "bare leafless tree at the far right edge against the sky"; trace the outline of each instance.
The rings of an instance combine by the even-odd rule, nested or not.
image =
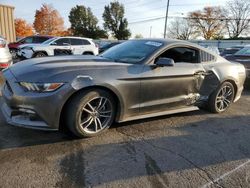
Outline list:
[[[225,16],[229,37],[238,38],[250,29],[250,1],[229,1],[226,5]]]

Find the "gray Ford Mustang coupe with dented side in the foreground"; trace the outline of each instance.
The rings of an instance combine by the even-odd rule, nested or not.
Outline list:
[[[129,40],[100,56],[26,60],[4,71],[1,109],[12,125],[95,136],[114,121],[208,109],[242,93],[245,68],[200,46]]]

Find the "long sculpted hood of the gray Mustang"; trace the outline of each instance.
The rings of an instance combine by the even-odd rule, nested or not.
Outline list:
[[[21,61],[9,70],[17,81],[68,82],[78,75],[95,75],[126,68],[127,63],[114,62],[99,56],[57,56]]]

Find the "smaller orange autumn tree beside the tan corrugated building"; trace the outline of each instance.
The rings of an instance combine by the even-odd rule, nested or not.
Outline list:
[[[32,25],[21,18],[15,19],[15,30],[17,37],[27,37],[34,34]]]

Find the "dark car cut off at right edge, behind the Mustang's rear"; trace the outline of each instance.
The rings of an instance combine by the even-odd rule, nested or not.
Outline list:
[[[246,46],[235,54],[226,56],[225,58],[229,61],[243,64],[246,68],[247,78],[250,78],[250,46]]]

